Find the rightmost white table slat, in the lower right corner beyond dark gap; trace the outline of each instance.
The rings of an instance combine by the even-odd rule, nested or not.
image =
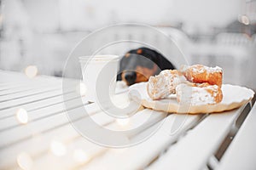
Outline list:
[[[244,124],[236,134],[233,143],[225,152],[218,170],[256,168],[256,105],[250,111]]]

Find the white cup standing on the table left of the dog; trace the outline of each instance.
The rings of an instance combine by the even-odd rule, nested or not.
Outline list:
[[[119,56],[81,56],[79,62],[87,89],[85,98],[91,102],[108,100],[114,94]]]

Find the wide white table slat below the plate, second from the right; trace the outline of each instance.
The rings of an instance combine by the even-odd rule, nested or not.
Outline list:
[[[207,116],[148,169],[201,169],[218,149],[245,106]]]

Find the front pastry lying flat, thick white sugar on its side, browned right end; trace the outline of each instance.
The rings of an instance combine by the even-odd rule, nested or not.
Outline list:
[[[214,105],[223,99],[218,85],[205,83],[181,83],[176,88],[177,102],[185,105]]]

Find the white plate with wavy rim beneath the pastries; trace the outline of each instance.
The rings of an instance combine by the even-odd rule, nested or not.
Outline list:
[[[176,95],[173,94],[166,99],[153,100],[147,93],[147,82],[140,82],[129,88],[131,99],[140,102],[144,107],[155,111],[167,111],[174,113],[212,113],[230,111],[246,104],[253,99],[254,92],[249,88],[223,84],[223,100],[216,105],[179,105]]]

